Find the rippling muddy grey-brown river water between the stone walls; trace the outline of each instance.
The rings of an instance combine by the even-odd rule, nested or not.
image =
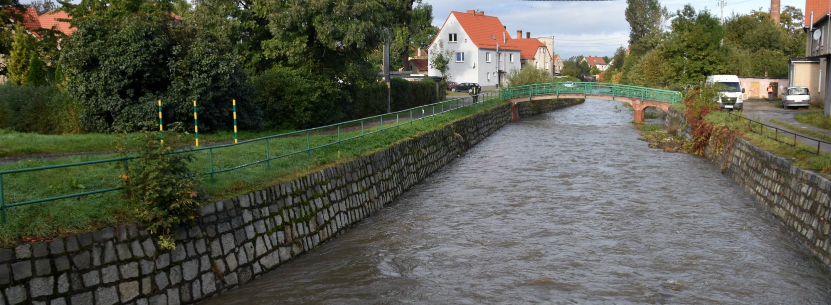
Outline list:
[[[706,159],[587,100],[509,123],[319,249],[203,304],[831,302],[831,274]]]

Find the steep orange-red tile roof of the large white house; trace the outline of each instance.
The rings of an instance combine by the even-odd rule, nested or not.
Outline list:
[[[484,12],[450,12],[450,15],[456,17],[459,25],[465,30],[470,41],[479,49],[496,49],[496,44],[499,43],[499,49],[505,50],[519,50],[511,39],[511,35],[499,21],[499,18],[493,16],[484,16]],[[450,16],[447,17],[450,19]],[[445,22],[447,22],[445,19]],[[442,25],[442,28],[445,26]],[[441,32],[441,30],[439,30]],[[505,42],[502,42],[502,37],[505,37]],[[435,41],[439,38],[438,35],[433,38],[430,46],[433,46]],[[430,49],[430,47],[428,47]]]

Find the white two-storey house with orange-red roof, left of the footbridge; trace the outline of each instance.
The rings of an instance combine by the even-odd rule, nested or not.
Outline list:
[[[439,41],[445,51],[453,51],[448,68],[450,81],[496,86],[499,80],[504,84],[504,73],[521,68],[520,47],[499,18],[485,16],[481,11],[450,12],[428,53],[440,54]],[[428,75],[441,76],[432,60],[430,56]]]

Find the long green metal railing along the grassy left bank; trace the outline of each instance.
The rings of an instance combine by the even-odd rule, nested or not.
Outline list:
[[[216,174],[222,172],[231,172],[234,170],[238,170],[244,167],[251,167],[256,164],[266,163],[266,168],[268,170],[271,169],[271,162],[275,159],[282,158],[282,157],[289,157],[294,156],[301,153],[307,153],[308,156],[312,156],[312,151],[320,148],[327,148],[332,145],[342,145],[344,142],[357,139],[357,138],[365,138],[367,135],[372,133],[381,133],[384,130],[396,128],[406,123],[414,123],[418,120],[424,120],[430,117],[434,117],[439,114],[444,114],[455,109],[462,109],[465,107],[469,107],[475,104],[481,104],[487,101],[494,101],[499,99],[499,94],[496,92],[487,92],[483,94],[478,94],[477,96],[465,96],[458,99],[450,99],[440,103],[435,104],[428,104],[424,106],[419,106],[412,109],[405,109],[398,112],[390,113],[390,114],[381,114],[376,115],[374,117],[364,118],[364,119],[356,119],[348,122],[343,123],[335,123],[332,125],[317,127],[317,128],[309,128],[305,130],[299,130],[290,133],[281,133],[276,134],[273,136],[263,137],[263,138],[254,138],[247,141],[239,141],[238,143],[229,143],[224,145],[216,145],[216,146],[209,146],[209,147],[200,147],[200,148],[190,148],[179,150],[176,152],[171,153],[194,153],[194,152],[207,152],[208,154],[208,168],[207,171],[199,172],[199,176],[210,176],[210,181],[215,181]],[[377,125],[376,125],[377,123]],[[357,128],[360,125],[360,133],[357,133]],[[354,129],[353,132],[344,132],[343,129],[352,128]],[[318,135],[328,135],[329,138],[332,135],[337,134],[337,138],[334,138],[332,141],[327,141],[326,143],[318,143],[322,139],[322,137],[317,137]],[[349,136],[350,134],[354,134]],[[285,152],[280,152],[279,149],[275,149],[273,143],[274,140],[277,138],[293,138],[295,140],[301,140],[305,138],[305,147],[299,148],[285,148],[288,149]],[[312,141],[312,138],[315,141]],[[301,141],[295,141],[296,143],[300,143]],[[220,151],[223,149],[233,148],[239,145],[262,145],[264,143],[265,151],[262,153],[261,158],[254,160],[252,162],[241,162],[240,164],[236,164],[231,167],[225,168],[215,168],[217,160],[215,160],[216,151]],[[235,156],[236,157],[236,156]],[[88,161],[88,162],[75,162],[75,163],[68,163],[68,164],[59,164],[59,165],[50,165],[50,166],[43,166],[43,167],[29,167],[29,168],[20,168],[20,169],[12,169],[6,171],[0,171],[0,218],[2,218],[2,224],[6,224],[6,214],[7,209],[15,206],[26,206],[32,205],[36,203],[42,203],[47,201],[57,201],[61,199],[67,198],[74,198],[74,197],[81,197],[81,196],[89,196],[94,194],[101,194],[110,191],[120,191],[123,190],[123,186],[112,186],[115,185],[115,181],[117,181],[117,177],[121,175],[126,175],[125,177],[129,176],[129,162],[130,160],[134,160],[139,158],[138,156],[132,157],[119,157],[119,158],[110,158],[104,160],[96,160],[96,161]],[[241,157],[239,159],[242,159]],[[235,158],[234,161],[237,161]],[[84,166],[91,166],[96,164],[103,164],[106,166],[110,166],[113,168],[113,171],[110,172],[109,177],[101,177],[99,180],[101,182],[108,181],[111,183],[109,187],[101,187],[91,191],[83,191],[71,194],[65,194],[60,196],[52,196],[47,198],[38,198],[33,200],[27,201],[17,201],[17,202],[6,202],[6,198],[8,193],[4,193],[6,190],[6,186],[8,182],[4,183],[4,179],[9,179],[13,174],[25,174],[31,172],[42,172],[43,175],[49,175],[52,170],[60,169],[60,168],[70,168],[70,167],[84,167]],[[55,174],[52,172],[52,174]],[[59,173],[60,174],[60,173]],[[98,177],[96,177],[98,179]],[[42,187],[42,186],[28,186],[28,187]],[[22,191],[22,190],[17,190]],[[25,190],[23,190],[25,191]]]

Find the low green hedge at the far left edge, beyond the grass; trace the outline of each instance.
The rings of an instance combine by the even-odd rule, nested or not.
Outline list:
[[[81,104],[57,87],[0,85],[0,128],[23,133],[81,133]]]

